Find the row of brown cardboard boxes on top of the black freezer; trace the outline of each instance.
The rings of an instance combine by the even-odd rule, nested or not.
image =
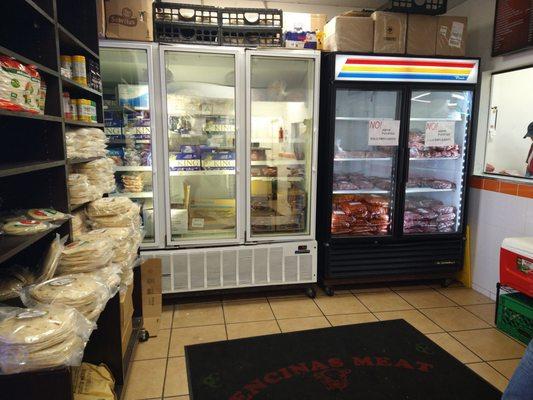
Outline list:
[[[324,27],[324,50],[464,56],[466,17],[350,12]]]

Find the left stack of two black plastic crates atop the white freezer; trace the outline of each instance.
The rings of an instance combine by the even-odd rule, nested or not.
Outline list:
[[[153,4],[153,14],[155,41],[220,44],[217,7],[158,2]]]

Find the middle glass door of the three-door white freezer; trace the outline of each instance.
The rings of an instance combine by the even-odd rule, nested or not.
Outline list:
[[[165,50],[171,243],[234,241],[235,54]]]

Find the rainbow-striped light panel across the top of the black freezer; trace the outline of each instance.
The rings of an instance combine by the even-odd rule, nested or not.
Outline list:
[[[337,55],[335,78],[349,81],[476,83],[478,60]]]

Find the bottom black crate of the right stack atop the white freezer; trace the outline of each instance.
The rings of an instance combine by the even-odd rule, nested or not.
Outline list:
[[[222,28],[220,43],[223,46],[282,47],[281,29]]]

